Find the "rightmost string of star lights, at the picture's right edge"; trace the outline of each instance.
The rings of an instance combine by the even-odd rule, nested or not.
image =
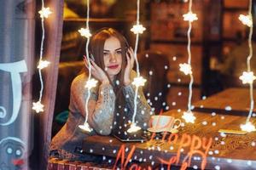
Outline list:
[[[249,114],[247,116],[247,120],[245,124],[241,124],[241,130],[252,132],[255,131],[255,126],[250,122],[250,118],[253,114],[253,106],[254,106],[254,100],[253,100],[253,81],[256,79],[256,77],[253,74],[253,71],[251,71],[251,59],[253,57],[253,48],[252,48],[252,36],[253,36],[253,15],[252,15],[252,0],[249,1],[248,4],[248,14],[243,15],[240,14],[239,20],[241,20],[241,23],[249,27],[249,36],[248,36],[248,47],[249,47],[249,54],[247,56],[247,71],[243,71],[241,79],[243,84],[249,84],[249,95],[250,95],[250,110]]]

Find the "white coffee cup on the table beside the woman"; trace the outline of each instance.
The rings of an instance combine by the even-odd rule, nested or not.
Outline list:
[[[178,128],[181,125],[180,119],[175,119],[173,116],[151,116],[151,128],[155,132],[171,132],[173,128]],[[178,124],[176,124],[178,122]]]

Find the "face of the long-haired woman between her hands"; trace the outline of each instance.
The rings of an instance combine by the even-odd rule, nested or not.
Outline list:
[[[104,43],[103,58],[105,71],[113,80],[121,70],[122,65],[122,48],[119,39],[116,37],[109,37]]]

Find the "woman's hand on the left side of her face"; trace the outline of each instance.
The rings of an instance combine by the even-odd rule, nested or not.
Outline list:
[[[102,71],[102,68],[96,65],[96,63],[90,59],[90,68],[91,68],[91,74],[93,77],[95,77],[98,81],[102,82],[102,84],[109,84],[108,77],[104,71]],[[89,70],[89,63],[86,57],[84,56],[84,65]]]

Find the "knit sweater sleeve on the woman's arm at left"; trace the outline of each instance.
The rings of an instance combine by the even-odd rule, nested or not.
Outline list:
[[[73,104],[84,117],[88,114],[88,123],[96,133],[108,135],[112,129],[115,105],[113,87],[110,84],[101,84],[96,88],[97,90],[91,89],[89,93],[88,89],[84,88],[87,79],[85,74],[74,79],[71,86]],[[86,113],[85,103],[89,94],[88,113]]]

